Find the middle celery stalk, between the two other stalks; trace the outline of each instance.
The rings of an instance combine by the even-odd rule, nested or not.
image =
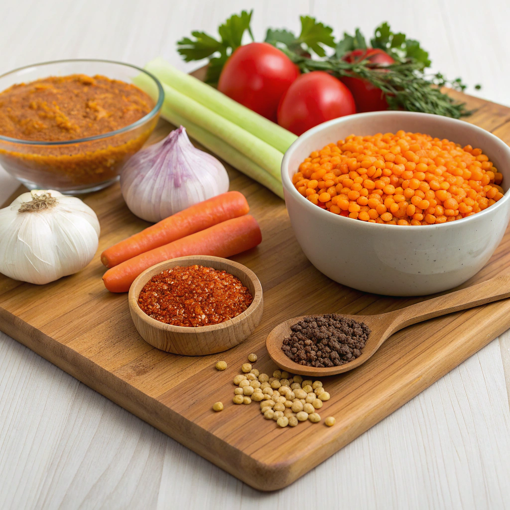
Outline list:
[[[202,129],[214,133],[237,149],[253,163],[267,170],[277,181],[281,181],[280,167],[283,153],[260,138],[248,133],[230,120],[209,110],[191,97],[162,84],[165,91],[165,105],[174,113],[193,122]]]

